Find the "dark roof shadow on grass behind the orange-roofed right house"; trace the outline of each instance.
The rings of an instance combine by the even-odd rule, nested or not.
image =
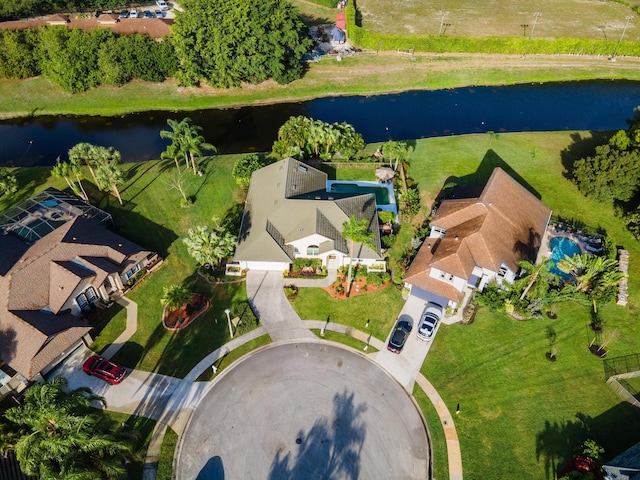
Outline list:
[[[537,199],[541,199],[542,195],[533,188],[518,172],[516,172],[500,155],[492,149],[487,150],[478,166],[477,170],[464,177],[448,177],[442,190],[436,198],[436,206],[442,200],[449,198],[476,198],[482,193],[482,189],[487,184],[489,177],[495,168],[502,168],[516,182],[526,188]]]

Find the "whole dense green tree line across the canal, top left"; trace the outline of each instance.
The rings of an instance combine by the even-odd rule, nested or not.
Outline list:
[[[0,30],[0,78],[43,75],[75,93],[133,79],[176,77],[183,86],[204,80],[229,88],[268,79],[289,83],[304,74],[302,57],[312,41],[291,3],[184,0],[181,5],[171,36],[161,41],[119,36],[108,28]]]

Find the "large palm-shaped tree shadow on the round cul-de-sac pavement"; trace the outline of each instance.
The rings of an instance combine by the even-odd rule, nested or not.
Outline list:
[[[316,420],[309,432],[298,432],[297,452],[278,451],[271,464],[271,480],[300,478],[350,478],[360,475],[360,454],[366,427],[360,418],[366,403],[354,405],[346,390],[333,397],[332,418]]]

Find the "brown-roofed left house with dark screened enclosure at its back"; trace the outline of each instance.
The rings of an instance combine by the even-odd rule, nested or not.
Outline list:
[[[106,228],[106,212],[55,189],[1,213],[0,222],[2,396],[89,345],[85,318],[157,254]]]

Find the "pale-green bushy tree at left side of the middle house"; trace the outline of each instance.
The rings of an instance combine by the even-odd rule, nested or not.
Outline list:
[[[237,240],[224,226],[212,230],[207,226],[190,228],[187,237],[182,239],[189,255],[207,268],[213,268],[216,264],[220,267],[224,258],[233,255]]]

